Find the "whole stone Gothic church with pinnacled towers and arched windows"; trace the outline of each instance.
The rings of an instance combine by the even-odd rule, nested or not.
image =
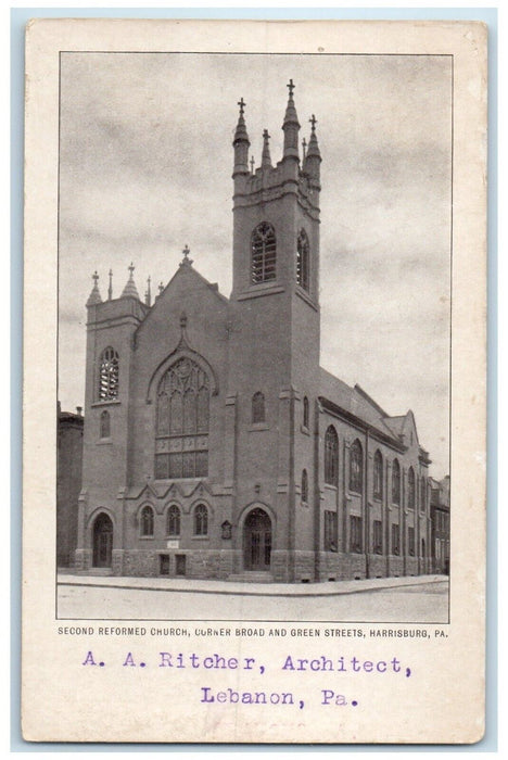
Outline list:
[[[193,267],[151,303],[134,266],[87,302],[85,573],[304,583],[431,571],[428,453],[319,366],[316,119],[300,145],[289,84],[283,154],[233,140],[230,297]]]

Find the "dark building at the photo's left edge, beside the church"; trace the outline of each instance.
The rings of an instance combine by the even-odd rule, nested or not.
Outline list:
[[[81,490],[81,407],[77,407],[77,414],[62,411],[59,402],[58,426],[56,562],[59,567],[72,567],[77,547],[78,498]]]

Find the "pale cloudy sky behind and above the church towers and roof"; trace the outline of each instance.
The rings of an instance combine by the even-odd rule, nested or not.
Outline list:
[[[321,164],[321,366],[390,415],[411,409],[431,473],[448,472],[452,64],[426,55],[62,53],[59,397],[85,396],[85,304],[130,262],[141,296],[186,244],[230,294],[232,147],[282,151],[287,83]],[[71,360],[69,360],[71,357]]]

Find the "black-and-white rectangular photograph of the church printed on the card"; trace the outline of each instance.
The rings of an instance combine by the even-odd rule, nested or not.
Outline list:
[[[59,618],[448,621],[453,77],[60,53]]]

